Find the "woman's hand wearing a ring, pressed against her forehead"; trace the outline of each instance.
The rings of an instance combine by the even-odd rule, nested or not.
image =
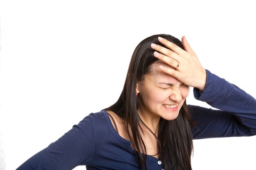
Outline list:
[[[185,50],[164,38],[159,37],[158,40],[169,49],[151,44],[151,47],[156,50],[154,56],[175,69],[166,68],[161,65],[159,68],[165,73],[177,78],[180,82],[204,91],[206,71],[186,41],[185,36],[182,37],[182,45]]]

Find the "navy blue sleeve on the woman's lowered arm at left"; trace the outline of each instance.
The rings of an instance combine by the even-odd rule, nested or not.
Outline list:
[[[96,140],[94,131],[95,119],[90,114],[16,170],[72,170],[90,164]]]

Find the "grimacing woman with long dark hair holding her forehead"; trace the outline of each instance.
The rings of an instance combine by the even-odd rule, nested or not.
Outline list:
[[[186,105],[196,99],[219,110]],[[186,39],[136,47],[115,104],[91,113],[18,170],[191,170],[193,139],[256,135],[256,100],[205,70]]]

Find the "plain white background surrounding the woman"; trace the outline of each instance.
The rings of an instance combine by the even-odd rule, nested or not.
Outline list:
[[[204,68],[256,97],[255,2],[2,0],[0,121],[13,170],[119,97],[144,38],[182,35]],[[205,107],[193,98],[187,103]],[[194,170],[255,170],[256,137],[194,141]],[[85,166],[76,170],[85,170]]]

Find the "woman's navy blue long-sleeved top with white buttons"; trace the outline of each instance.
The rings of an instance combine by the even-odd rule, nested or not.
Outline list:
[[[256,135],[256,100],[234,84],[207,70],[206,88],[194,88],[194,96],[220,109],[188,105],[198,122],[194,139]],[[85,117],[17,170],[71,170],[79,165],[87,170],[139,170],[130,141],[116,132],[104,110]],[[162,162],[148,156],[147,168],[162,170]]]

